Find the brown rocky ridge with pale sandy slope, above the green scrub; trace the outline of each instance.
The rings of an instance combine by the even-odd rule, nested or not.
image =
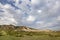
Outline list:
[[[28,31],[28,32],[53,32],[52,30],[38,30],[26,26],[0,25],[0,30]]]

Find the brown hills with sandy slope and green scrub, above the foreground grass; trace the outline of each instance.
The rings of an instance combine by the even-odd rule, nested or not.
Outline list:
[[[48,35],[51,37],[60,37],[60,31],[52,31],[49,29],[38,30],[27,26],[14,26],[14,25],[0,25],[0,36],[43,36]]]

